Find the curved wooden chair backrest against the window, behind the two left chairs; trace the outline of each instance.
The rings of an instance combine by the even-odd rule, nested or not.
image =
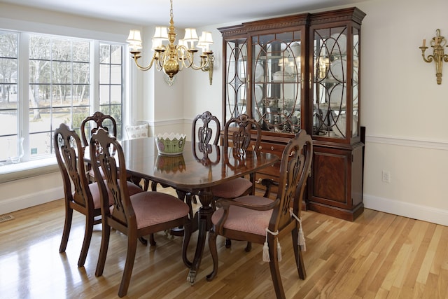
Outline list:
[[[95,123],[96,127],[92,126],[92,123]],[[92,116],[87,116],[81,123],[80,132],[83,146],[89,145],[90,137],[92,137],[92,134],[97,132],[100,127],[110,134],[113,134],[113,136],[117,136],[117,122],[115,118],[97,111],[93,113]]]

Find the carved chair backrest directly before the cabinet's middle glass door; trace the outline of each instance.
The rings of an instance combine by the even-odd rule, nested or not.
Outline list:
[[[237,127],[238,130],[232,130],[232,127]],[[232,147],[238,150],[246,150],[251,144],[251,131],[255,129],[255,144],[253,149],[255,151],[260,148],[261,143],[261,127],[253,118],[249,118],[247,114],[241,114],[236,118],[230,118],[224,126],[223,145],[229,146],[229,139],[232,141]],[[231,133],[231,137],[229,134]]]

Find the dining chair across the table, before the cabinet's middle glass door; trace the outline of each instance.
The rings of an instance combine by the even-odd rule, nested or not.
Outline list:
[[[255,139],[252,138],[251,131],[255,129]],[[258,151],[261,143],[261,127],[253,118],[247,114],[241,114],[238,117],[230,118],[224,126],[223,146],[232,147],[232,155],[243,153],[252,144],[252,149]],[[250,148],[249,148],[250,149]],[[255,176],[251,174],[248,179],[239,177],[232,181],[226,181],[211,188],[214,200],[211,205],[216,209],[215,202],[220,198],[232,199],[243,195],[253,195],[255,193]],[[230,248],[232,242],[226,239],[225,246]],[[249,242],[246,251],[251,250]]]

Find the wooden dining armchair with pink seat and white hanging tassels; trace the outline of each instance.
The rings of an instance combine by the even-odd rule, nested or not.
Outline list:
[[[218,274],[218,251],[216,236],[263,244],[263,261],[269,262],[272,282],[277,298],[285,298],[279,261],[279,239],[287,233],[293,238],[295,263],[300,279],[306,278],[302,251],[302,200],[307,178],[311,171],[313,144],[307,132],[301,130],[290,139],[281,156],[279,191],[276,199],[246,195],[235,200],[218,200],[218,208],[211,217],[209,248],[213,259],[213,271],[207,275],[211,281]],[[267,190],[266,193],[269,193]]]

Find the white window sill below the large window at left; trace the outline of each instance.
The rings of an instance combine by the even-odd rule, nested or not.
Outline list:
[[[0,166],[0,183],[27,179],[32,176],[57,172],[58,166],[56,158],[46,158],[18,164],[8,164]]]

